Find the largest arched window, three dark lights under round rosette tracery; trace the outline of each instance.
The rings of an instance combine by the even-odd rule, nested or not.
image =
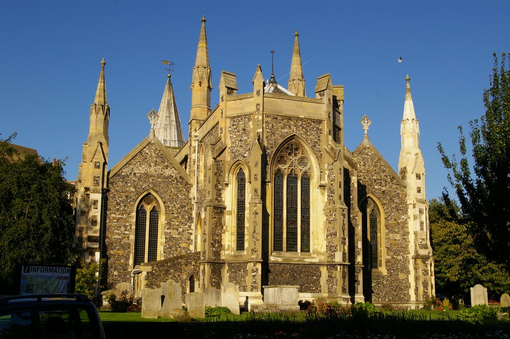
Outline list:
[[[273,251],[310,252],[310,159],[294,140],[275,159]]]

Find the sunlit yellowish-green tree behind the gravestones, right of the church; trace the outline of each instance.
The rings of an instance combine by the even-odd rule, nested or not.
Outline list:
[[[429,222],[436,293],[463,298],[479,283],[487,288],[490,298],[497,300],[510,290],[510,276],[504,265],[476,251],[455,201],[431,199]]]

